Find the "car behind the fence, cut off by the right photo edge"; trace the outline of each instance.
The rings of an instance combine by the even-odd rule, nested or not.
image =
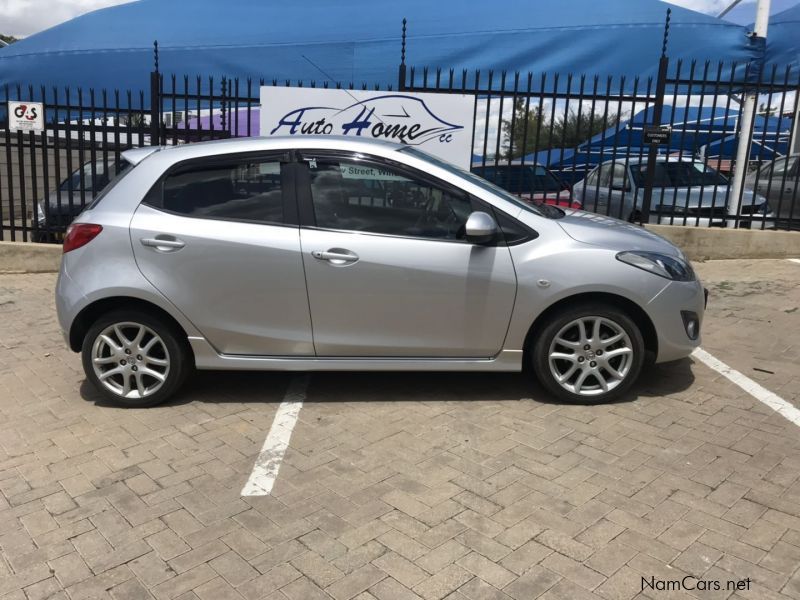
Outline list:
[[[779,221],[800,218],[799,155],[782,156],[764,163],[747,175],[745,187],[765,197]]]

